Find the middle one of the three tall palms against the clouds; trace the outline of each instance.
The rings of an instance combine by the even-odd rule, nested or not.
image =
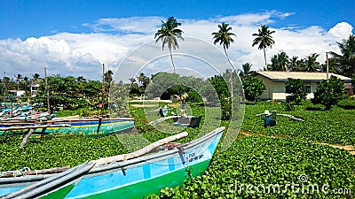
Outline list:
[[[232,30],[232,27],[228,26],[229,24],[226,24],[225,22],[223,22],[222,25],[218,25],[218,32],[212,33],[214,39],[213,43],[216,44],[217,42],[219,42],[219,45],[223,45],[223,49],[225,50],[225,56],[227,57],[229,64],[232,65],[233,71],[235,71],[232,62],[228,57],[227,49],[229,48],[231,43],[234,42],[232,36],[236,35],[230,32]]]

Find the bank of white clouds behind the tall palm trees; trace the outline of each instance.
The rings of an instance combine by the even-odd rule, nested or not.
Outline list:
[[[217,25],[221,22],[230,23],[233,26],[233,33],[237,35],[234,38],[235,42],[228,50],[233,65],[241,68],[242,64],[248,62],[253,65],[252,69],[258,70],[264,67],[264,54],[263,50],[257,50],[257,47],[251,46],[254,39],[252,34],[257,32],[261,24],[268,24],[272,27],[272,21],[287,18],[292,14],[270,11],[236,16],[217,16],[213,19],[177,19],[177,21],[182,23],[180,28],[184,31],[184,36],[199,38],[210,43],[209,46],[213,46],[211,33],[217,32]],[[93,29],[94,33],[91,34],[59,33],[40,38],[30,37],[25,41],[20,39],[1,40],[0,65],[11,77],[16,73],[28,77],[31,73],[40,73],[43,76],[43,67],[46,66],[50,75],[55,73],[83,75],[88,79],[99,80],[102,63],[106,64],[106,68],[114,70],[130,52],[138,50],[140,45],[154,40],[154,33],[161,25],[161,20],[164,19],[161,17],[99,19],[95,24],[85,24],[86,27]],[[326,51],[339,52],[336,42],[341,42],[341,39],[349,36],[352,27],[346,22],[341,22],[328,31],[321,27],[272,28],[272,30],[276,31],[273,34],[275,44],[272,49],[267,50],[268,62],[270,62],[272,55],[285,51],[289,57],[300,58],[311,55],[311,53],[319,53],[318,61],[323,63]],[[110,34],[107,34],[107,31]],[[211,52],[206,50],[209,47],[199,46],[198,43],[187,43],[185,40],[184,42],[180,41],[179,44],[180,50],[188,46],[192,53],[193,50],[205,53],[206,60],[209,58],[225,59],[223,49],[219,45],[216,45],[219,51],[210,54]],[[155,47],[150,50],[158,50],[156,55],[168,53],[168,50],[162,52],[161,42],[154,45]],[[179,51],[174,50],[173,52]],[[154,57],[154,55],[153,53],[150,57]],[[139,56],[130,58],[139,62],[146,60]],[[169,61],[169,57],[167,58],[166,62]],[[178,58],[177,64],[182,63],[181,60]],[[186,65],[188,64],[182,66],[186,67]],[[171,65],[167,65],[167,67],[171,67]],[[134,76],[134,72],[130,70],[122,73],[125,73],[123,76],[127,77],[127,80]]]

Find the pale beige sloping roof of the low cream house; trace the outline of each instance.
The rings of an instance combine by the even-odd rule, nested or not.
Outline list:
[[[270,80],[288,80],[288,78],[300,79],[300,80],[309,80],[309,81],[318,81],[326,80],[327,73],[310,73],[310,72],[283,72],[283,71],[256,71],[256,74],[263,75],[264,77]],[[351,78],[344,77],[343,75],[328,73],[330,76],[335,76],[340,78],[340,80],[351,81]]]

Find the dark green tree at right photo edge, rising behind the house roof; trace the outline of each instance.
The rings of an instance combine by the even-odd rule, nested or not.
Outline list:
[[[344,76],[351,77],[355,73],[355,35],[349,35],[343,42],[337,42],[342,54],[330,52],[335,59],[335,65]]]

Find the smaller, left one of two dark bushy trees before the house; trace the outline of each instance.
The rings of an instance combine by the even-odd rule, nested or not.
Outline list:
[[[304,81],[300,79],[288,78],[286,81],[286,92],[291,94],[291,96],[286,96],[286,101],[288,103],[301,103],[307,96],[304,92]]]

